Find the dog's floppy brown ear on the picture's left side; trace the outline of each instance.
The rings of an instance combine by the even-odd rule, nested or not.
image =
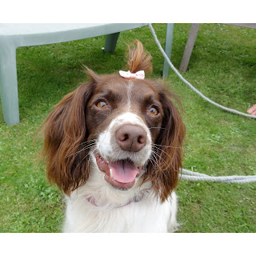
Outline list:
[[[86,142],[86,105],[94,92],[95,82],[79,86],[55,106],[43,123],[46,174],[66,194],[89,177]]]

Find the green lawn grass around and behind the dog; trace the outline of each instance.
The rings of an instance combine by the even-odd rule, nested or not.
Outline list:
[[[162,45],[165,25],[154,28]],[[180,65],[190,24],[176,24],[172,62]],[[0,110],[0,232],[59,232],[62,194],[49,186],[34,136],[52,107],[86,80],[81,62],[98,74],[121,70],[126,44],[143,42],[162,73],[162,54],[147,27],[122,32],[114,54],[105,37],[17,50],[21,122],[6,126]],[[256,102],[256,30],[202,24],[184,77],[212,100],[242,112]],[[210,175],[256,174],[256,122],[199,98],[170,71],[166,78],[182,100],[186,122],[184,168]],[[256,232],[256,184],[185,182],[178,186],[180,232]]]

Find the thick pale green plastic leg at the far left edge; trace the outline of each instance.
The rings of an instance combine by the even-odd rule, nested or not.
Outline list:
[[[16,48],[7,45],[0,45],[0,96],[6,124],[18,124]]]

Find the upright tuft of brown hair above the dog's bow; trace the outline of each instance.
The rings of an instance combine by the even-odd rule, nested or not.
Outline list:
[[[144,70],[146,74],[151,73],[153,70],[150,62],[151,59],[152,56],[144,51],[142,43],[138,40],[129,46],[127,64],[131,73],[136,73],[139,70]]]

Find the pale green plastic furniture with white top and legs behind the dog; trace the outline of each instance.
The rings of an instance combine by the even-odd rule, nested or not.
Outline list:
[[[38,46],[68,42],[83,38],[107,35],[105,51],[114,51],[121,31],[131,30],[146,23],[131,24],[0,24],[0,96],[3,117],[7,125],[18,124],[18,82],[16,49],[22,46]],[[170,56],[173,24],[166,26],[166,53]],[[165,64],[164,75],[169,66]]]

